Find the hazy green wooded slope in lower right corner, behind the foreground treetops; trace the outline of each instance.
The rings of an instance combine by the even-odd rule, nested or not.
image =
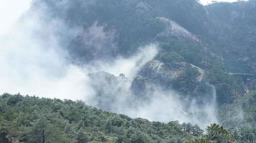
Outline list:
[[[251,91],[232,104],[222,105],[219,109],[221,124],[229,127],[237,142],[256,140],[256,92]]]

